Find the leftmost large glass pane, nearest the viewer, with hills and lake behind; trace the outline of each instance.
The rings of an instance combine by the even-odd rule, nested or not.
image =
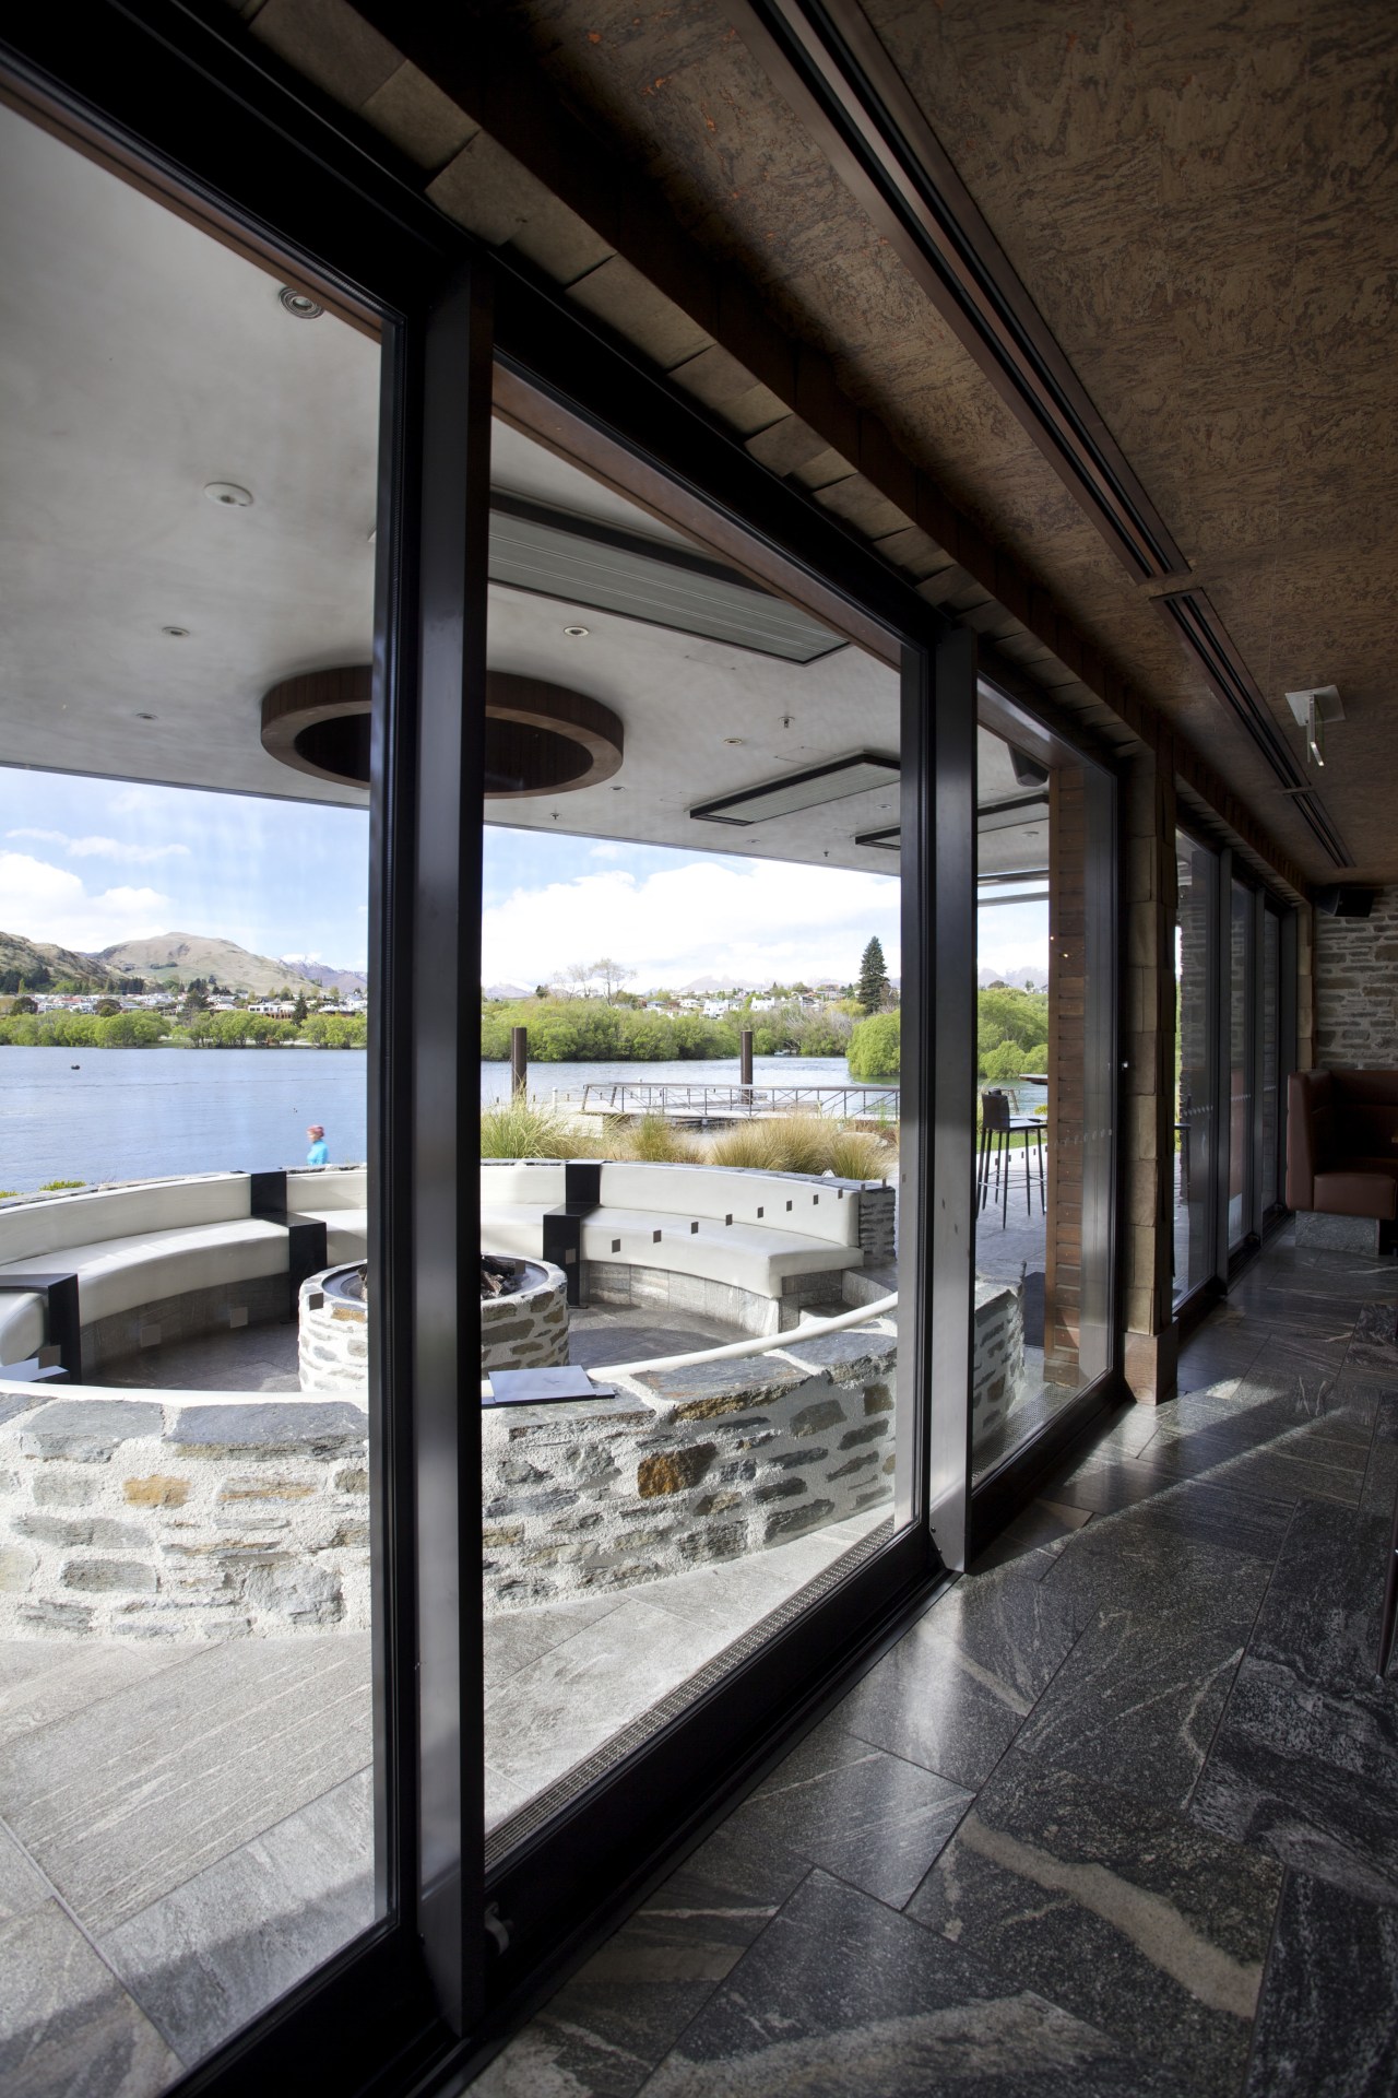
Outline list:
[[[155,2092],[381,1913],[379,344],[8,107],[0,243],[0,2060]]]

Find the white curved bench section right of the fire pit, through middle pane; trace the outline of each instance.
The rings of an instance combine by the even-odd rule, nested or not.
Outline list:
[[[796,1303],[864,1265],[864,1181],[736,1166],[604,1162],[599,1202],[581,1219],[589,1294],[654,1301],[646,1278],[706,1284],[696,1309],[748,1332],[776,1332]],[[566,1160],[482,1160],[480,1242],[545,1257],[545,1217],[566,1200]],[[673,1288],[671,1288],[673,1294]],[[690,1299],[683,1299],[690,1301]]]

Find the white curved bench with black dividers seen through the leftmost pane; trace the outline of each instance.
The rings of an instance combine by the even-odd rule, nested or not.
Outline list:
[[[254,1215],[254,1190],[281,1181],[201,1173],[2,1204],[0,1364],[52,1345],[40,1282],[54,1276],[75,1278],[88,1364],[132,1353],[149,1324],[163,1339],[207,1330],[235,1297],[249,1318],[287,1315],[291,1225],[325,1223],[329,1259],[365,1259],[365,1169],[287,1173],[285,1208]]]

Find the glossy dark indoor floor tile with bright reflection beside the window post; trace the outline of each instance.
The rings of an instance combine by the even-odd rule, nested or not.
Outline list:
[[[838,1725],[954,1785],[989,1777],[1069,1653],[1073,1609],[1017,1565],[966,1576],[838,1708]]]

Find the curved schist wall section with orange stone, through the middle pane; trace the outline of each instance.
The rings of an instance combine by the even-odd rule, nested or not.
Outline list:
[[[887,1320],[616,1378],[614,1399],[482,1416],[486,1609],[786,1544],[893,1494]]]

